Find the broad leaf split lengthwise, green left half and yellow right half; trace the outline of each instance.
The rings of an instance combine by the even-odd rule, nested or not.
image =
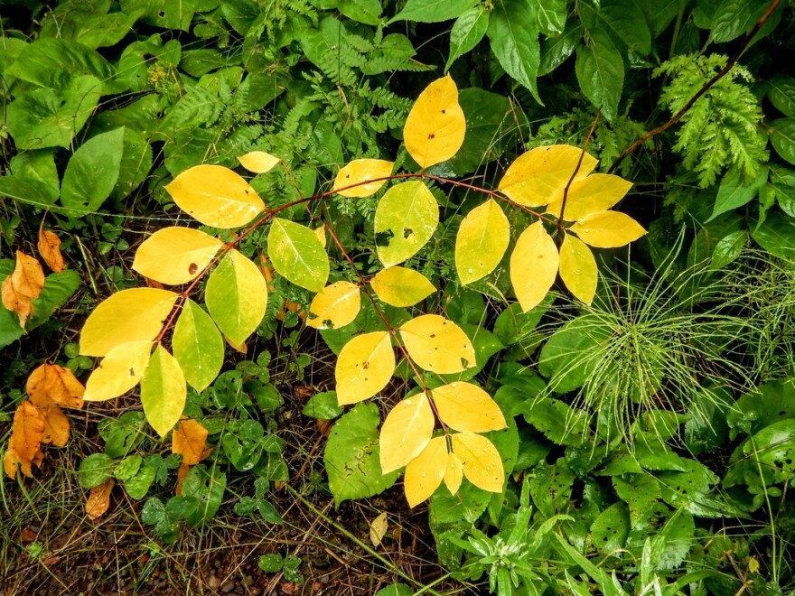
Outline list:
[[[248,258],[230,250],[210,274],[204,302],[220,331],[234,343],[243,343],[265,316],[265,277]]]

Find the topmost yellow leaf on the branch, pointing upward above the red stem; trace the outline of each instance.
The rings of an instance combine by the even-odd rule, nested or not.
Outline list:
[[[458,153],[465,133],[466,119],[458,105],[458,88],[448,75],[436,79],[416,98],[406,118],[403,141],[408,154],[425,170]]]

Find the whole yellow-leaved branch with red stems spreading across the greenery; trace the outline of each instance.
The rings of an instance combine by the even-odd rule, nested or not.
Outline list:
[[[480,489],[500,492],[505,480],[500,452],[483,434],[506,427],[500,407],[470,381],[433,388],[424,381],[423,371],[453,375],[473,368],[472,341],[441,314],[419,314],[395,327],[379,306],[379,301],[413,306],[436,292],[424,275],[401,266],[435,234],[439,205],[429,182],[465,186],[485,198],[466,214],[456,235],[455,270],[463,285],[500,266],[511,245],[511,210],[532,219],[516,230],[509,259],[522,312],[545,299],[558,275],[575,298],[591,303],[598,277],[592,247],[622,247],[646,232],[611,209],[631,183],[593,173],[597,162],[585,147],[532,149],[510,164],[496,191],[428,173],[454,157],[465,134],[458,88],[447,76],[431,83],[407,116],[404,142],[418,172],[393,172],[394,163],[380,159],[353,160],[341,168],[332,190],[275,209],[229,168],[203,164],[179,174],[166,191],[181,210],[210,228],[241,231],[225,242],[194,228],[164,228],[138,247],[133,264],[137,273],[158,286],[179,287],[122,290],[90,314],[79,349],[101,360],[89,377],[85,399],[111,399],[140,384],[146,420],[161,436],[169,433],[182,415],[187,387],[201,392],[220,373],[224,340],[239,346],[265,317],[266,277],[239,251],[239,244],[267,228],[265,252],[276,273],[315,294],[307,325],[319,330],[349,325],[362,308],[362,293],[384,323],[382,331],[361,333],[342,347],[335,368],[339,405],[384,393],[396,372],[396,353],[416,377],[420,391],[391,408],[379,433],[381,470],[386,475],[405,468],[409,505],[430,498],[443,481],[455,494],[463,478]],[[239,162],[261,174],[279,160],[256,152]],[[388,183],[374,218],[375,235],[384,238],[374,247],[383,269],[366,278],[324,221],[334,246],[355,272],[349,280],[328,284],[331,264],[324,233],[280,213],[312,201],[367,200]]]

